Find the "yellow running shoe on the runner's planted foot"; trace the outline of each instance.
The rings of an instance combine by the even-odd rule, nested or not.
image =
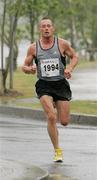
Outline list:
[[[63,155],[61,148],[55,150],[54,162],[63,162]]]

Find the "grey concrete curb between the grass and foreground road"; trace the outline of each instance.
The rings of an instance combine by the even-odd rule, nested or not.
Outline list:
[[[27,119],[45,120],[43,110],[33,110],[31,108],[0,106],[0,113]],[[71,124],[97,126],[97,116],[86,114],[71,114]]]

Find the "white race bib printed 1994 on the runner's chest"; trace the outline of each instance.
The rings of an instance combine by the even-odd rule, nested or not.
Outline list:
[[[59,59],[43,59],[40,61],[42,77],[53,77],[59,75]]]

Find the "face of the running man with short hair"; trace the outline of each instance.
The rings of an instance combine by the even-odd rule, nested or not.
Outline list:
[[[40,33],[42,37],[49,38],[54,34],[54,26],[50,19],[43,19],[40,22]]]

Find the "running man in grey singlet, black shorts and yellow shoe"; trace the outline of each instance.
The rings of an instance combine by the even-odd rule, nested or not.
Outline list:
[[[36,93],[47,116],[47,130],[55,150],[54,162],[62,162],[57,121],[63,126],[70,121],[72,92],[67,79],[71,78],[78,58],[66,40],[54,35],[51,19],[43,18],[40,21],[39,32],[39,39],[28,48],[22,70],[28,74],[37,72]],[[67,66],[66,56],[70,58]]]

